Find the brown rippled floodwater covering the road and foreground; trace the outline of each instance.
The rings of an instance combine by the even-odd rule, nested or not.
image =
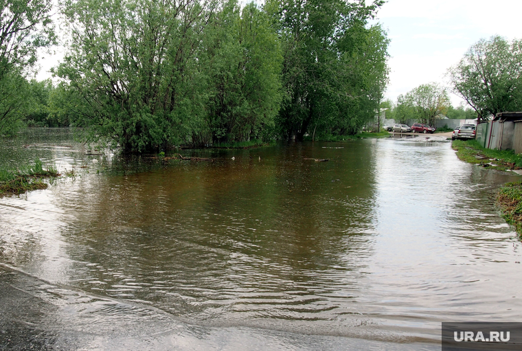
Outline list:
[[[442,321],[521,320],[516,174],[422,137],[181,154],[215,162],[2,141],[76,176],[0,199],[1,350],[440,350]]]

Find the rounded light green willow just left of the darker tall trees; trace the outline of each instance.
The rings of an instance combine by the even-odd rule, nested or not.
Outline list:
[[[207,143],[260,139],[282,96],[282,55],[269,19],[253,3],[227,1],[207,25],[198,63],[207,79]],[[206,143],[205,143],[206,144]]]

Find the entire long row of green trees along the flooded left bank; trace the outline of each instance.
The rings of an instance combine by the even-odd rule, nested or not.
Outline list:
[[[373,124],[387,39],[384,1],[63,0],[61,81],[27,82],[56,42],[51,0],[10,0],[0,17],[0,133],[76,126],[124,152],[353,135]],[[391,113],[391,111],[389,111]]]

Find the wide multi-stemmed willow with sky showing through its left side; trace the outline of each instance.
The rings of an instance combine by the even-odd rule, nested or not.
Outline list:
[[[58,76],[82,101],[77,126],[128,152],[186,141],[201,117],[195,53],[214,4],[78,0]]]

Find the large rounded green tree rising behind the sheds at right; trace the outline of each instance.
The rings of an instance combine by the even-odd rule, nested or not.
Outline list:
[[[449,69],[453,91],[479,117],[522,109],[522,41],[481,39]]]

